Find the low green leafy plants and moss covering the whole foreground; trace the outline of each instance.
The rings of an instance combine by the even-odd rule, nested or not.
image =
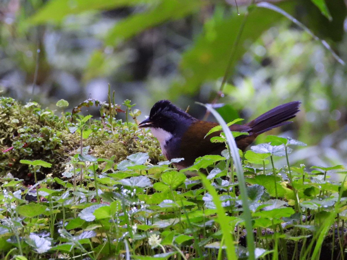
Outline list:
[[[58,117],[37,104],[1,98],[1,116],[12,124],[1,130],[2,259],[347,257],[342,165],[291,165],[292,149],[305,144],[271,135],[241,153],[225,131],[215,141],[229,149],[197,158],[187,169],[196,176],[189,177],[170,165],[180,158],[164,161],[157,154],[157,142],[149,130],[137,128],[140,112],[129,101],[116,106],[110,99],[107,109],[101,106],[101,118],[93,120],[69,113]],[[110,107],[124,111],[125,122]],[[40,124],[19,130],[33,121],[25,120],[28,111]],[[42,128],[48,127],[51,135],[45,139]],[[75,140],[73,149],[62,149],[62,133]],[[117,142],[112,148],[98,140],[102,136],[124,146]],[[48,147],[52,137],[62,142]],[[123,149],[128,155],[118,156]],[[275,157],[287,164],[276,168]],[[332,180],[333,172],[343,178]]]

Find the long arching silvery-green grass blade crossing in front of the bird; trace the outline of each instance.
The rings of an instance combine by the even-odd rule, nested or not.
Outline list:
[[[245,183],[245,177],[243,175],[243,168],[241,164],[241,158],[238,153],[238,148],[235,142],[234,137],[232,136],[232,133],[227,126],[226,122],[223,120],[223,118],[218,114],[217,111],[213,109],[211,105],[204,105],[202,103],[198,103],[206,107],[215,119],[217,119],[218,123],[221,125],[223,132],[225,133],[225,137],[227,139],[227,144],[229,147],[229,150],[231,151],[232,159],[234,161],[235,169],[236,169],[236,176],[237,180],[239,182],[239,189],[240,189],[240,197],[242,200],[242,208],[243,208],[243,216],[245,220],[245,226],[246,226],[246,241],[247,241],[247,248],[248,248],[248,259],[254,260],[254,236],[253,236],[253,227],[252,227],[252,217],[251,217],[251,210],[249,210],[249,203],[248,203],[248,195],[246,190],[246,183]]]

